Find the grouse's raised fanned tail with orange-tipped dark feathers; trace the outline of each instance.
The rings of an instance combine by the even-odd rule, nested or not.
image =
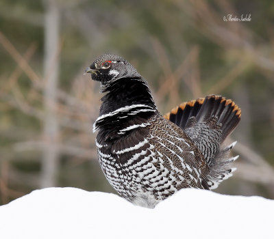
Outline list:
[[[227,147],[222,143],[240,122],[240,116],[235,102],[215,95],[184,102],[164,115],[183,128],[205,156],[210,167],[206,178],[210,189],[218,187],[235,171],[230,163],[238,156],[229,157],[229,152],[236,142]]]

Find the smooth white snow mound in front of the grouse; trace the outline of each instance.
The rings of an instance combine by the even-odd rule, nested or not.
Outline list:
[[[274,201],[183,189],[154,209],[45,188],[0,207],[0,238],[274,238]]]

